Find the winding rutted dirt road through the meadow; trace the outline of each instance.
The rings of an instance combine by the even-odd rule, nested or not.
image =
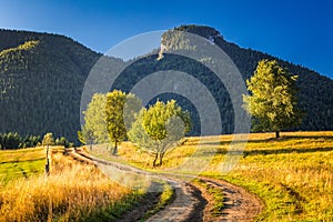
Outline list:
[[[213,201],[211,194],[202,186],[195,185],[194,183],[188,183],[171,175],[153,174],[139,170],[133,167],[129,167],[121,163],[110,162],[91,157],[84,152],[75,152],[73,157],[78,159],[88,159],[92,161],[97,167],[102,169],[104,173],[113,172],[115,170],[125,171],[128,173],[141,174],[155,176],[158,179],[164,180],[171,184],[175,190],[175,199],[172,203],[167,205],[163,210],[152,215],[147,221],[159,222],[159,221],[253,221],[255,215],[258,215],[263,210],[262,202],[253,194],[246,192],[244,189],[228,183],[223,180],[214,180],[208,178],[200,178],[209,186],[215,189],[221,189],[224,194],[224,208],[219,215],[213,215],[211,209],[213,208]],[[108,168],[112,168],[112,171],[105,171]],[[112,176],[113,174],[110,174]],[[142,211],[144,206],[141,205],[134,211]],[[131,216],[131,213],[128,214]],[[135,221],[131,218],[122,221]]]

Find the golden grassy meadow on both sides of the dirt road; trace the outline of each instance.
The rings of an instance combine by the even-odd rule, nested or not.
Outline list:
[[[185,138],[165,154],[159,168],[152,168],[153,157],[130,142],[121,144],[118,157],[105,145],[85,150],[157,173],[170,172],[189,158],[201,164],[213,152],[200,174],[256,194],[265,205],[256,221],[333,221],[333,132],[283,132],[281,139],[274,139],[273,133],[251,133],[235,168],[223,173],[221,162],[232,138]],[[64,155],[63,148],[53,148],[51,172],[46,176],[44,155],[42,148],[0,152],[0,221],[112,221],[144,199],[144,191],[112,182],[93,164]],[[216,200],[223,198],[210,192]],[[163,208],[172,195],[165,188],[145,216]],[[220,211],[223,204],[214,208]]]

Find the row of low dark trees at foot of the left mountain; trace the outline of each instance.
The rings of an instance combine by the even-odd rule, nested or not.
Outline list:
[[[0,133],[0,150],[13,150],[24,148],[36,148],[42,144],[40,135],[21,137],[18,132]],[[73,142],[69,142],[64,137],[53,140],[52,144],[65,148],[73,147]]]

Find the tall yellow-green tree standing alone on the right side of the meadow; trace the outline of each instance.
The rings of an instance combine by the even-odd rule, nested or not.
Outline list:
[[[301,124],[297,108],[297,75],[292,75],[275,60],[259,62],[254,75],[246,81],[251,95],[244,95],[244,107],[254,118],[254,130],[280,131]]]

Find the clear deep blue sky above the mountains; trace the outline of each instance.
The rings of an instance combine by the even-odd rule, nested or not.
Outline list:
[[[333,79],[332,10],[330,0],[0,0],[0,28],[60,33],[105,52],[143,32],[205,24]]]

